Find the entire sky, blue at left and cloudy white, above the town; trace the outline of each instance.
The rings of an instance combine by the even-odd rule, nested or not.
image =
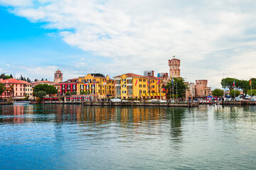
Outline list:
[[[145,70],[181,77],[256,77],[256,1],[0,0],[0,72],[53,80]]]

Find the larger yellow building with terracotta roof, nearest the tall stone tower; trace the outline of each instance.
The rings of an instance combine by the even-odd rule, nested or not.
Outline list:
[[[117,98],[166,98],[162,88],[163,81],[157,77],[127,73],[114,77],[114,83]]]

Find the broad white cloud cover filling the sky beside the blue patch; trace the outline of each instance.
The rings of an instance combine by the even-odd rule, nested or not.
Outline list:
[[[220,86],[223,72],[248,79],[247,72],[256,71],[248,62],[256,60],[255,32],[248,33],[256,28],[255,1],[0,0],[0,4],[60,30],[69,45],[111,60],[93,66],[78,60],[78,68],[113,76],[148,69],[168,72],[168,60],[176,55],[183,77],[187,73],[188,81],[208,79],[211,86]]]

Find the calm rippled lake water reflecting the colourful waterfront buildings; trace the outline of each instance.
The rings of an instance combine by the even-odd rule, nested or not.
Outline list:
[[[256,169],[256,107],[0,106],[0,169]]]

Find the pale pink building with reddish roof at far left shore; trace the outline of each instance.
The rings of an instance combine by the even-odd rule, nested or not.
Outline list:
[[[20,81],[17,79],[1,79],[0,83],[6,86],[6,91],[1,94],[3,98],[14,97],[14,99],[19,99],[25,97],[26,94],[26,81]],[[13,86],[13,93],[11,92],[11,87]]]

